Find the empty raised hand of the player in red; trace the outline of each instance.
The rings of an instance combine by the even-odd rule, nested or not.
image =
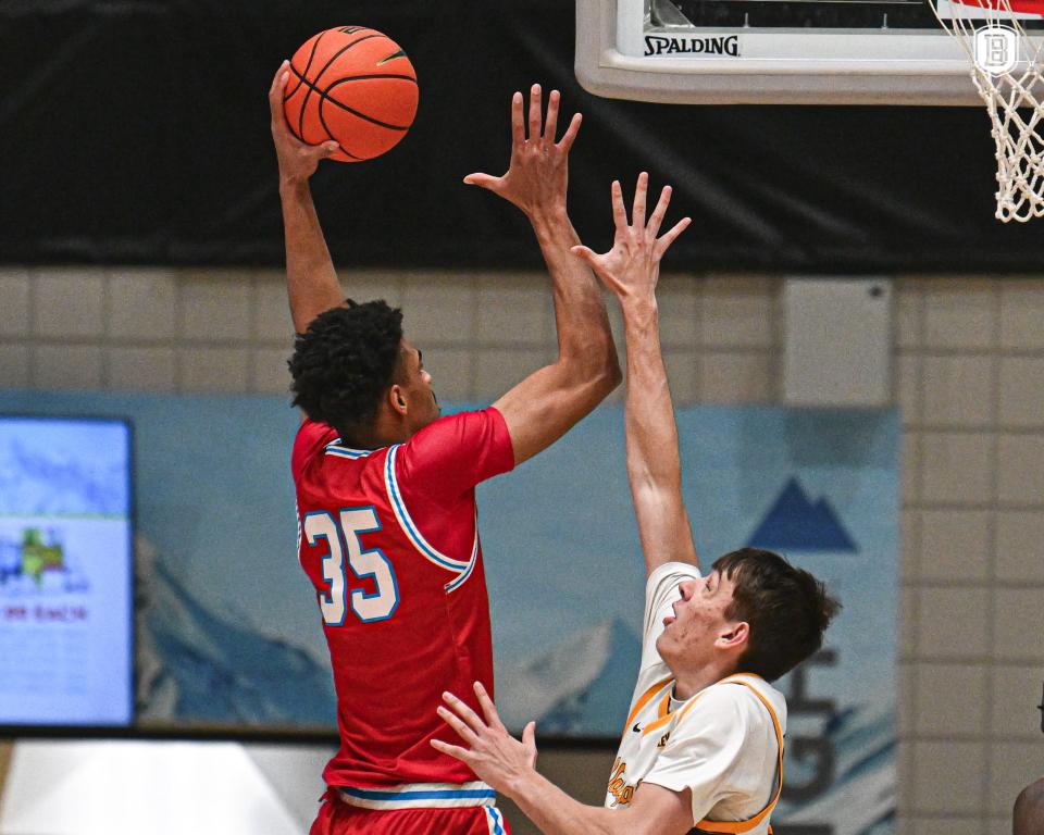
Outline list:
[[[469,174],[464,183],[480,186],[514,203],[525,214],[535,215],[566,211],[566,191],[569,186],[569,150],[580,130],[581,115],[575,113],[562,134],[558,132],[558,109],[561,95],[551,90],[547,116],[543,120],[540,85],[530,88],[529,119],[523,119],[522,94],[511,98],[511,162],[506,174]],[[529,135],[526,135],[526,127]]]

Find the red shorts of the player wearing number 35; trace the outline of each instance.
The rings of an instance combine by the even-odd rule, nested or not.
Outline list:
[[[362,809],[327,792],[309,835],[510,835],[499,809]]]

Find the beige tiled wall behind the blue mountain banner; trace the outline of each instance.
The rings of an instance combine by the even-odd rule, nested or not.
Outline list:
[[[495,398],[554,354],[542,274],[344,281],[357,298],[403,307],[444,398]],[[896,287],[900,832],[1000,835],[1018,790],[1044,773],[1044,281]],[[778,399],[779,289],[664,276],[680,403]],[[0,270],[0,387],[283,392],[289,328],[278,272]],[[599,802],[605,756],[587,769],[574,768],[579,752],[558,757],[592,773],[586,799]]]

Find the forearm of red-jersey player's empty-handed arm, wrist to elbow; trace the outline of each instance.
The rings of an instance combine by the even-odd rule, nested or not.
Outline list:
[[[560,361],[581,379],[601,379],[608,394],[620,382],[612,329],[594,273],[570,249],[580,244],[564,209],[531,217],[551,276]]]

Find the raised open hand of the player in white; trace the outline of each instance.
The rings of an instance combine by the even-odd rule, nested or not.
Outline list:
[[[626,296],[649,298],[655,294],[660,275],[660,259],[692,220],[683,217],[662,236],[657,237],[667,214],[667,207],[671,202],[671,187],[664,186],[660,191],[660,199],[646,222],[648,186],[649,175],[642,172],[634,189],[634,205],[629,224],[620,180],[613,180],[612,217],[616,224],[616,236],[612,249],[604,254],[598,254],[584,246],[573,247],[572,250],[594,270],[602,284],[621,299]]]

